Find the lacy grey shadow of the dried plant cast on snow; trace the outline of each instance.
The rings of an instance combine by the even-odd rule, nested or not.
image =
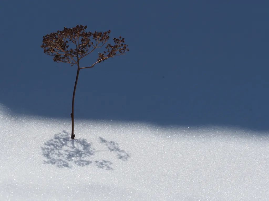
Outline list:
[[[118,159],[127,161],[130,157],[130,154],[119,148],[118,143],[107,141],[102,137],[99,137],[99,140],[100,143],[108,147],[106,151],[116,152]],[[71,163],[79,166],[95,164],[98,168],[113,170],[111,167],[112,162],[97,160],[93,157],[98,150],[92,148],[91,143],[87,142],[86,139],[72,140],[70,134],[66,131],[55,134],[51,140],[48,140],[44,144],[45,146],[41,147],[41,149],[43,156],[47,158],[44,161],[46,164],[56,165],[59,168],[72,168]]]

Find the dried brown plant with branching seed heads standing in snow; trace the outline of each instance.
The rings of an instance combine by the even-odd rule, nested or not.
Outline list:
[[[77,65],[77,76],[75,81],[75,87],[73,91],[72,99],[72,133],[71,138],[75,138],[74,134],[74,101],[75,92],[77,86],[77,80],[79,77],[79,71],[84,68],[93,68],[97,63],[105,61],[108,58],[114,56],[123,55],[128,45],[125,44],[124,38],[113,38],[114,45],[110,43],[105,47],[103,53],[98,53],[97,62],[87,67],[80,67],[79,61],[83,57],[86,57],[92,53],[95,49],[105,45],[109,39],[110,30],[106,32],[86,32],[87,26],[77,25],[73,28],[63,28],[63,31],[57,31],[56,33],[50,33],[43,36],[43,44],[41,47],[44,49],[44,53],[53,57],[55,62],[69,63],[71,66]]]

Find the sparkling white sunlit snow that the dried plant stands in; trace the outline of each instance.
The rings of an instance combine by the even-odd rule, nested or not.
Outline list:
[[[268,133],[11,114],[0,200],[269,200]]]

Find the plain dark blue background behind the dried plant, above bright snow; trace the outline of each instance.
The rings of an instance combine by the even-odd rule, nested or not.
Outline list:
[[[130,52],[80,71],[75,120],[268,130],[269,2],[216,2],[1,1],[0,103],[70,118],[76,66],[40,45],[82,24],[123,36]]]

